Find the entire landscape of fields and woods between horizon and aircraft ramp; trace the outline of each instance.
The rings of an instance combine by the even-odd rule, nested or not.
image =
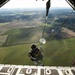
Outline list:
[[[28,57],[31,45],[42,45],[45,66],[72,66],[75,59],[75,13],[52,10],[46,21],[43,11],[13,11],[0,15],[0,64],[34,65]],[[58,11],[58,12],[57,12]],[[65,12],[65,13],[64,13]]]

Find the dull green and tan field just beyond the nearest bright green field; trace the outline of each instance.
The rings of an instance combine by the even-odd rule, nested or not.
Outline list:
[[[3,35],[9,35],[4,45],[37,42],[42,36],[42,27],[12,29]]]

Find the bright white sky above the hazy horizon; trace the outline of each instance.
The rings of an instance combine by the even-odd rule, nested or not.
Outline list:
[[[46,7],[48,0],[10,0],[2,8],[43,8]],[[53,7],[70,7],[66,0],[51,0],[51,8]]]

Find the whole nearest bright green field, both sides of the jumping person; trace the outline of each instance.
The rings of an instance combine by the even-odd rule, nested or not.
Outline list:
[[[75,38],[47,41],[43,45],[44,65],[71,66],[75,56],[74,41]],[[0,64],[34,65],[28,57],[31,44],[0,47]],[[39,42],[36,44],[40,46]]]

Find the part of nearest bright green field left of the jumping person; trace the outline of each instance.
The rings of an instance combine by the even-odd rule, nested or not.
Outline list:
[[[30,45],[18,45],[0,48],[1,64],[28,64],[31,62],[27,55]]]

